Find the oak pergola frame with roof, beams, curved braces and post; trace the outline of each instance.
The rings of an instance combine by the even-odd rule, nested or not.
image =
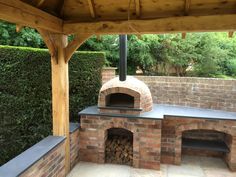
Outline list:
[[[51,54],[53,135],[66,136],[68,61],[91,35],[236,30],[236,0],[0,0],[0,19],[38,30]],[[67,36],[75,34],[68,43]],[[185,35],[183,35],[185,36]]]

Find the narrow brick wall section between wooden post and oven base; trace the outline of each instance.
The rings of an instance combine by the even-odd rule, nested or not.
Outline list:
[[[70,168],[72,169],[79,158],[79,129],[70,133]]]

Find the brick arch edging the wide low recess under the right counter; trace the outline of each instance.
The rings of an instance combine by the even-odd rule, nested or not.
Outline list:
[[[214,130],[230,135],[231,137],[235,136],[234,131],[229,125],[222,125],[222,123],[217,122],[197,122],[191,124],[182,124],[176,127],[175,134],[175,164],[181,164],[182,156],[182,133],[189,130]]]

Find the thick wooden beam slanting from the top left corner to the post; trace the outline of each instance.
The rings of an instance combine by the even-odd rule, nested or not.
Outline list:
[[[19,0],[0,0],[0,19],[61,33],[63,21]]]

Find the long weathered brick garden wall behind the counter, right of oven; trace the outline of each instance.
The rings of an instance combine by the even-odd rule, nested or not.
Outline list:
[[[154,103],[236,112],[236,80],[137,76],[151,90]]]

